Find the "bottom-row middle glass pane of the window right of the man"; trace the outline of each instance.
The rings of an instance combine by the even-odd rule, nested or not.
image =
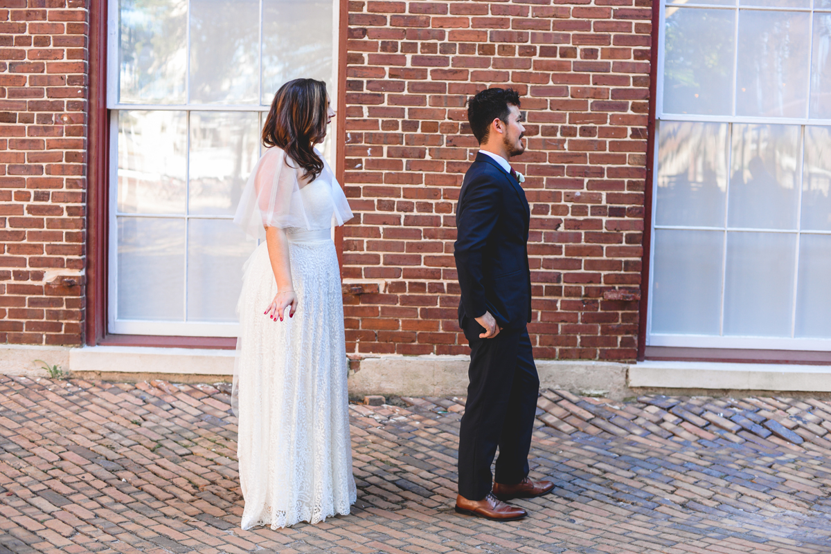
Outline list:
[[[790,337],[794,233],[727,233],[725,335]]]

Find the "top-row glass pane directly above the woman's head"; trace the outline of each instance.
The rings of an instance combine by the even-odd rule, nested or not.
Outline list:
[[[325,80],[332,90],[332,0],[263,0],[263,104],[288,80]]]

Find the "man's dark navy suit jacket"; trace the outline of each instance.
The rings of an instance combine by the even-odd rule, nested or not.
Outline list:
[[[465,173],[456,207],[459,324],[486,311],[499,328],[531,321],[528,230],[531,212],[519,182],[487,154]]]

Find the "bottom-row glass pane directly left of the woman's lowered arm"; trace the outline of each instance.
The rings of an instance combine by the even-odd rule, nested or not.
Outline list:
[[[235,323],[243,264],[257,243],[229,219],[191,219],[189,226],[188,321]]]

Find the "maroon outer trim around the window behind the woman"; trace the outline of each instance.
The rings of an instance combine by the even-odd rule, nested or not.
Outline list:
[[[347,122],[347,22],[349,4],[340,0],[337,60],[337,135],[335,172],[343,186],[346,160]],[[107,0],[91,0],[90,86],[87,139],[86,187],[86,321],[87,346],[141,346],[232,349],[237,339],[229,337],[169,337],[165,335],[120,335],[107,332],[107,247],[109,229],[110,114],[106,109]],[[335,228],[337,260],[342,265],[343,231]]]

